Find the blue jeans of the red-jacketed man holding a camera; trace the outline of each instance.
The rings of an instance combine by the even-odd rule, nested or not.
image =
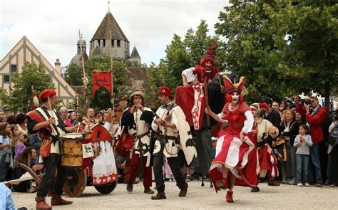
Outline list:
[[[310,147],[310,158],[311,163],[309,164],[309,182],[314,181],[315,175],[315,182],[322,184],[322,170],[320,169],[320,160],[319,160],[319,145],[312,145]]]

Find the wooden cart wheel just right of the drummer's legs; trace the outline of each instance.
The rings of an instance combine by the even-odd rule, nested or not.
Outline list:
[[[87,174],[83,170],[78,172],[76,169],[68,169],[66,182],[63,184],[63,191],[69,197],[80,196],[87,184]]]

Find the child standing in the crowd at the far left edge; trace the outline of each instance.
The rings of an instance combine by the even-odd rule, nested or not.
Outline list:
[[[0,123],[0,182],[5,182],[11,159],[11,127],[6,122]],[[8,178],[8,177],[7,177]]]

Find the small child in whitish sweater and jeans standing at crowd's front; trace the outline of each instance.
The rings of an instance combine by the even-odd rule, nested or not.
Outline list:
[[[298,187],[304,185],[309,187],[309,182],[307,181],[307,169],[309,166],[309,147],[312,146],[312,139],[309,135],[309,127],[307,125],[299,125],[299,135],[295,138],[295,143],[293,145],[297,147],[296,151],[296,182]],[[303,174],[303,176],[302,176]],[[302,179],[303,177],[303,179]]]

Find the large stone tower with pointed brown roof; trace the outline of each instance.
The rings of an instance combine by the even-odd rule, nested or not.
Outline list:
[[[111,39],[109,31],[111,31]],[[126,61],[129,58],[128,38],[118,26],[111,11],[108,11],[91,38],[89,57],[110,56],[111,48],[113,48],[113,60]]]

